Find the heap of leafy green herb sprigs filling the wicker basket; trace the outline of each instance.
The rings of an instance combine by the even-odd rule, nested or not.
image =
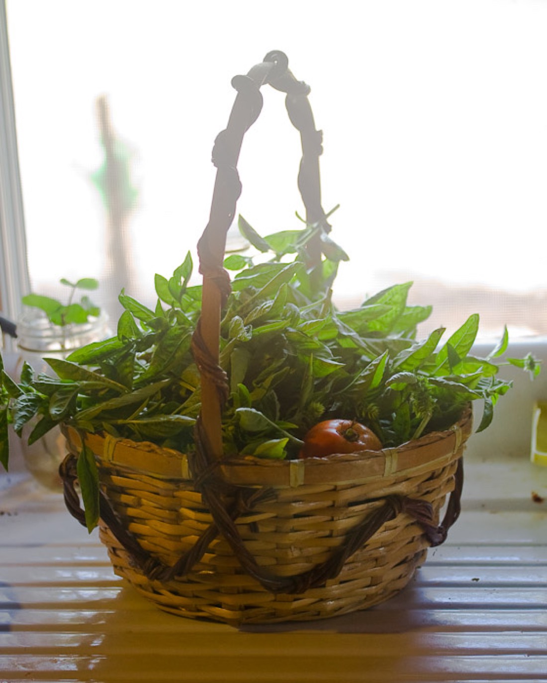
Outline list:
[[[431,307],[408,304],[411,282],[349,311],[336,309],[331,285],[347,254],[319,225],[265,237],[244,219],[239,226],[260,258],[234,254],[224,262],[234,273],[220,339],[230,388],[223,415],[228,456],[291,458],[306,431],[332,417],[360,421],[384,446],[397,446],[448,428],[477,401],[483,405],[480,431],[511,387],[498,376],[501,365],[539,373],[530,354],[503,361],[507,329],[487,357],[476,357],[476,314],[446,342],[444,328],[417,339]],[[321,261],[308,268],[306,245],[318,237]],[[0,462],[6,468],[8,423],[21,434],[31,419],[29,441],[65,423],[180,451],[194,448],[201,395],[190,344],[201,287],[189,284],[192,271],[187,254],[171,277],[156,275],[154,307],[122,292],[116,336],[75,350],[65,361],[46,359],[55,378],[35,376],[25,364],[16,384],[0,367]],[[98,483],[88,451],[79,458],[79,475],[92,528]]]

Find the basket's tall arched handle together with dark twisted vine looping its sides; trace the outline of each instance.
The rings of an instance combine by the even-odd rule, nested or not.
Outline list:
[[[455,473],[455,488],[451,492],[446,514],[440,525],[436,524],[433,508],[427,501],[391,495],[384,499],[383,505],[377,507],[371,516],[353,529],[347,542],[336,548],[329,559],[299,576],[272,575],[267,568],[258,566],[254,557],[245,548],[235,520],[245,510],[252,510],[254,505],[267,499],[269,491],[230,486],[215,473],[216,466],[223,455],[222,407],[228,391],[226,375],[219,367],[219,328],[220,310],[224,299],[230,293],[230,278],[222,267],[226,234],[235,217],[237,199],[241,194],[237,161],[243,136],[261,112],[263,98],[260,88],[265,83],[286,93],[286,109],[291,122],[300,132],[303,154],[298,174],[298,186],[306,207],[306,221],[319,225],[324,232],[330,232],[327,216],[321,207],[319,156],[322,152],[322,134],[315,130],[308,102],[310,88],[302,81],[296,81],[289,71],[288,60],[284,53],[268,53],[264,61],[254,66],[247,76],[235,76],[232,79],[232,85],[238,94],[228,127],[219,133],[215,140],[213,163],[217,167],[217,178],[213,191],[211,215],[198,242],[200,273],[203,275],[202,315],[192,339],[192,350],[202,376],[202,410],[196,424],[196,452],[193,454],[191,469],[196,475],[196,488],[201,491],[211,511],[213,522],[202,533],[194,548],[185,553],[174,566],[166,567],[139,545],[131,531],[125,529],[122,520],[118,518],[106,494],[102,491],[99,494],[99,507],[103,522],[129,553],[135,566],[142,568],[149,578],[167,580],[175,576],[185,576],[205,553],[209,543],[216,538],[218,533],[222,533],[241,566],[263,587],[275,593],[296,594],[310,587],[323,585],[325,581],[338,576],[346,559],[358,548],[362,548],[385,522],[394,519],[399,514],[412,516],[423,528],[431,546],[444,542],[449,528],[460,512],[463,458],[460,454]],[[315,241],[308,242],[307,257],[308,266],[312,268],[321,261],[319,231]],[[66,507],[72,516],[85,525],[85,514],[75,488],[76,463],[75,455],[69,453],[59,468],[59,473],[64,481]],[[228,505],[226,505],[227,499]]]

